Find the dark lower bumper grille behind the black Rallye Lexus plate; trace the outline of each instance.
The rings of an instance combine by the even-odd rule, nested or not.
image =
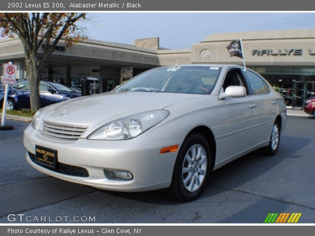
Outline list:
[[[36,163],[37,165],[40,165],[48,170],[55,171],[64,175],[69,175],[69,176],[76,176],[76,177],[89,177],[89,172],[87,169],[79,166],[71,166],[67,164],[63,164],[60,162],[56,163],[56,169],[41,165],[40,163],[35,161],[35,154],[29,152],[29,156],[31,160]]]

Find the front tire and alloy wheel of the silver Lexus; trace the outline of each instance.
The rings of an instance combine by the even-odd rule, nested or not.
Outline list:
[[[178,152],[171,186],[164,192],[175,200],[183,202],[194,200],[207,185],[210,172],[209,144],[201,134],[192,133],[184,140]]]

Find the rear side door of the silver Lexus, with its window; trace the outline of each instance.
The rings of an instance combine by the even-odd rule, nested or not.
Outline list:
[[[267,83],[258,74],[250,70],[244,74],[253,106],[252,118],[256,125],[255,143],[259,145],[270,139],[271,127],[277,114],[277,100],[270,93]]]

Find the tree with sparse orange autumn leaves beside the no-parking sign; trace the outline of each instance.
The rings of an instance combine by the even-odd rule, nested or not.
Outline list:
[[[41,107],[39,81],[57,43],[62,40],[70,47],[86,37],[84,28],[77,24],[81,20],[86,20],[85,13],[0,13],[1,36],[18,36],[24,47],[32,111]],[[43,52],[38,57],[40,48]]]

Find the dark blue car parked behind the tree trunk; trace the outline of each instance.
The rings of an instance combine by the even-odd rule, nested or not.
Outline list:
[[[4,89],[0,88],[0,104],[3,102],[3,94]],[[42,107],[80,96],[81,94],[61,84],[46,81],[39,82],[39,97]],[[29,82],[22,82],[11,86],[8,92],[6,109],[17,110],[30,108]]]

